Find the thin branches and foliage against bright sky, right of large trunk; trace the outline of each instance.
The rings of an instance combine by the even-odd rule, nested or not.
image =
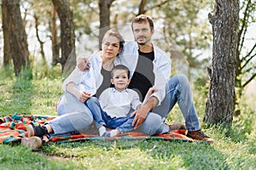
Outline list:
[[[236,56],[236,92],[237,100],[241,99],[243,88],[256,77],[256,35],[253,28],[255,20],[256,2],[242,0],[240,8],[240,25],[238,30],[238,46]]]

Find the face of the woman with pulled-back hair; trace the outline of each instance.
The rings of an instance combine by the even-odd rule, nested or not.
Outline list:
[[[117,37],[107,36],[103,38],[102,56],[105,59],[113,59],[119,52],[119,39]]]

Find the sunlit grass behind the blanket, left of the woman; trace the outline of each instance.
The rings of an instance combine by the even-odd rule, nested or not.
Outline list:
[[[42,68],[41,68],[42,69]],[[59,71],[59,69],[56,69]],[[61,73],[50,70],[48,75],[34,73],[33,79],[9,77],[2,69],[0,82],[0,114],[15,112],[24,114],[49,115],[55,113],[55,103],[61,95]],[[39,71],[42,73],[43,71]],[[48,87],[48,88],[46,88]]]

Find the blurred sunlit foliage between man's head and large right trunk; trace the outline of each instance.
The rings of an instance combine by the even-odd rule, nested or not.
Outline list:
[[[162,10],[156,11],[159,14],[158,20],[163,20],[162,32],[166,37],[166,51],[170,49],[171,39],[186,56],[190,68],[200,68],[201,63],[206,63],[207,60],[200,57],[209,59],[202,56],[212,41],[207,17],[202,9],[209,8],[210,5],[210,1],[171,1],[163,5]]]

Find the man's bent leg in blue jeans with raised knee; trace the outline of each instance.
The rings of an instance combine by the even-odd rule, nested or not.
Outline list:
[[[186,128],[189,131],[200,130],[201,127],[195,111],[190,84],[183,75],[171,77],[166,82],[166,98],[159,106],[154,108],[153,112],[162,117],[167,117],[176,103],[183,113]]]

